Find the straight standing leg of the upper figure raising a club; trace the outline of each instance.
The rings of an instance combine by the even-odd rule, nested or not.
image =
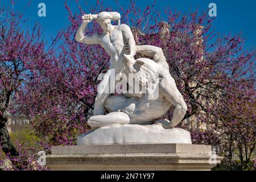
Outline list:
[[[104,103],[106,99],[114,92],[115,88],[115,73],[113,69],[109,69],[103,77],[103,80],[98,84],[98,92],[95,99],[93,115],[104,115]]]

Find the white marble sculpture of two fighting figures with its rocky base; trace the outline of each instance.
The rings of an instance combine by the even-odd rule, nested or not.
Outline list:
[[[110,69],[98,85],[94,113],[88,119],[92,131],[79,135],[77,145],[191,143],[188,131],[174,128],[184,118],[187,105],[170,75],[162,49],[149,45],[136,46],[129,26],[120,24],[120,21],[118,26],[111,24],[112,20],[119,20],[120,17],[116,12],[82,16],[83,23],[76,34],[77,42],[100,44],[110,55]],[[85,27],[93,19],[100,24],[103,34],[84,35]],[[136,53],[145,57],[135,60]],[[120,80],[124,82],[122,92],[111,94]],[[108,90],[105,86],[109,84]],[[175,109],[171,121],[160,119],[172,105]],[[109,112],[106,115],[105,110]],[[148,125],[153,120],[157,125]]]

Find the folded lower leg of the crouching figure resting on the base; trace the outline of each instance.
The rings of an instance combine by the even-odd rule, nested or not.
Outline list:
[[[112,125],[126,125],[129,124],[129,115],[123,112],[113,112],[106,115],[94,115],[87,121],[90,127],[103,127]]]

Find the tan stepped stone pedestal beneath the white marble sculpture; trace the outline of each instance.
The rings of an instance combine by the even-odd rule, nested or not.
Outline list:
[[[210,170],[222,159],[210,154],[211,146],[196,144],[56,146],[46,164],[52,170]]]

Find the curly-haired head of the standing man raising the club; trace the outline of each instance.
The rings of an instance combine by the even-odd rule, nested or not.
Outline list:
[[[109,32],[111,30],[111,19],[112,14],[106,11],[99,13],[97,16],[97,22],[98,24],[100,24],[102,30],[104,30],[105,32]]]

